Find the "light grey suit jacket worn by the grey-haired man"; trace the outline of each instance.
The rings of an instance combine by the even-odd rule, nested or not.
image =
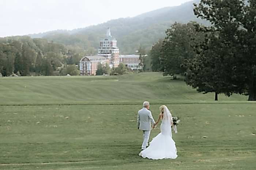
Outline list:
[[[137,118],[139,130],[151,130],[151,123],[155,124],[151,111],[147,110],[145,107],[139,110]]]

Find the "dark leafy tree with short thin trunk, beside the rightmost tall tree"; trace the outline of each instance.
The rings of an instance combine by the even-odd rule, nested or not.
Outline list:
[[[196,57],[185,62],[185,82],[204,94],[215,92],[215,100],[218,100],[218,94],[230,96],[238,89],[230,83],[230,74],[227,71],[230,65],[223,57],[225,53],[232,54],[233,49],[220,43],[216,33],[211,33],[206,39],[205,43],[197,47]]]

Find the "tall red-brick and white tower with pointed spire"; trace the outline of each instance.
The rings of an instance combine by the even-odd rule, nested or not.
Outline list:
[[[105,39],[100,42],[98,55],[106,57],[110,67],[119,65],[119,48],[117,47],[117,40],[111,36],[110,28],[107,29]]]

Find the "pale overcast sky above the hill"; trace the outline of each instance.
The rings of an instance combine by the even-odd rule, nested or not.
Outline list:
[[[0,37],[75,29],[190,0],[0,0]]]

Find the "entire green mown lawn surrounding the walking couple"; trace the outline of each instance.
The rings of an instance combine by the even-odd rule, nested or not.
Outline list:
[[[0,78],[0,169],[255,170],[256,103],[219,99],[160,73]],[[144,100],[181,117],[177,159],[138,156]]]

